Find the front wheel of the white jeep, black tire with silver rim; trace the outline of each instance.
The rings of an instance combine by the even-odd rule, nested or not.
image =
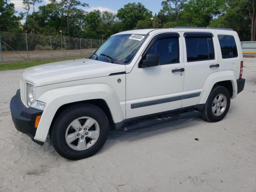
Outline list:
[[[51,143],[62,157],[79,160],[98,152],[108,137],[106,114],[92,104],[77,104],[63,110],[50,131]]]

